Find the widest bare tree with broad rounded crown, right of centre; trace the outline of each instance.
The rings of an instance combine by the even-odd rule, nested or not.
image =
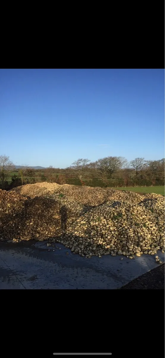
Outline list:
[[[105,180],[107,175],[112,177],[118,169],[121,169],[127,160],[123,157],[112,157],[108,156],[105,158],[98,159],[93,163],[93,168],[95,171],[101,175],[102,180]]]

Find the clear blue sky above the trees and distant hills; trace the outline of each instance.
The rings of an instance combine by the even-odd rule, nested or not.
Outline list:
[[[164,158],[164,69],[0,69],[0,155],[66,168],[78,158]]]

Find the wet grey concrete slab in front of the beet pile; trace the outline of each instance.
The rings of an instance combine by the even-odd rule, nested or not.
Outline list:
[[[118,289],[159,266],[151,255],[132,260],[111,255],[88,259],[64,245],[54,245],[1,242],[0,289]],[[164,253],[157,255],[165,261]]]

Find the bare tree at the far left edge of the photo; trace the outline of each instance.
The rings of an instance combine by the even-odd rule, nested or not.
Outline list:
[[[8,155],[0,155],[0,180],[2,188],[4,189],[5,181],[7,180],[9,173],[15,169],[15,165],[9,160]]]

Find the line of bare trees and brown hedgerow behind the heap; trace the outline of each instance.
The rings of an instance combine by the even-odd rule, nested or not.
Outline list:
[[[15,171],[17,174],[11,176]],[[7,181],[9,177],[10,183]],[[128,162],[121,156],[107,156],[94,162],[87,158],[79,158],[65,169],[53,166],[46,169],[31,169],[27,164],[15,169],[9,156],[0,155],[1,189],[9,190],[18,185],[42,181],[100,187],[164,185],[165,159],[135,158]]]

